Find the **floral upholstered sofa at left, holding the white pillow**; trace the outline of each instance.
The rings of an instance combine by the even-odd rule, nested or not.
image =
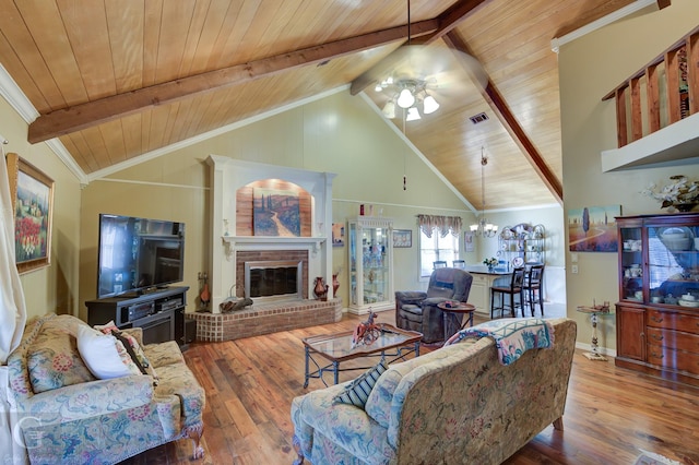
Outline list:
[[[180,438],[202,456],[204,390],[177,343],[142,346],[145,373],[97,379],[79,350],[87,331],[75,317],[36,318],[8,358],[14,436],[31,463],[114,464]],[[141,344],[141,329],[125,334]]]

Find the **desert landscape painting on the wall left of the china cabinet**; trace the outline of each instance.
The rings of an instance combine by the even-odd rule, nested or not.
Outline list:
[[[616,252],[616,216],[621,216],[621,205],[585,206],[568,211],[570,251]]]

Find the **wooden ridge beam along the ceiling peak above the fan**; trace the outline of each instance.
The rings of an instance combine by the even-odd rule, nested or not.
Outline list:
[[[489,1],[491,0],[461,0],[435,19],[438,22],[438,28],[436,28],[435,32],[423,36],[415,33],[415,36],[418,37],[415,40],[411,39],[411,45],[424,45],[437,40],[453,29],[460,22],[469,17],[470,14],[474,13],[478,7]],[[414,24],[411,24],[411,37],[413,37],[414,26]],[[407,37],[407,35],[405,37]],[[371,69],[365,71],[360,76],[352,81],[350,94],[357,95],[376,83],[378,81],[377,76],[386,74],[401,58],[401,53],[391,53]]]

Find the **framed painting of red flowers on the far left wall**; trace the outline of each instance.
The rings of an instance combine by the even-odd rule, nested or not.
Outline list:
[[[27,273],[50,265],[54,180],[22,159],[7,156],[10,196],[14,202],[14,259]]]

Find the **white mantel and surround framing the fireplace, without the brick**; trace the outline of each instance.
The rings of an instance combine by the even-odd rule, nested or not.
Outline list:
[[[312,296],[312,278],[323,276],[332,283],[332,181],[331,172],[309,171],[277,165],[246,162],[218,155],[210,155],[206,163],[211,170],[211,270],[209,284],[211,309],[220,313],[218,305],[235,295],[236,251],[306,250],[308,251],[308,295]],[[236,192],[250,182],[280,179],[293,182],[312,196],[311,237],[254,237],[235,236]],[[224,225],[228,222],[228,235]],[[328,299],[333,298],[332,286]]]

